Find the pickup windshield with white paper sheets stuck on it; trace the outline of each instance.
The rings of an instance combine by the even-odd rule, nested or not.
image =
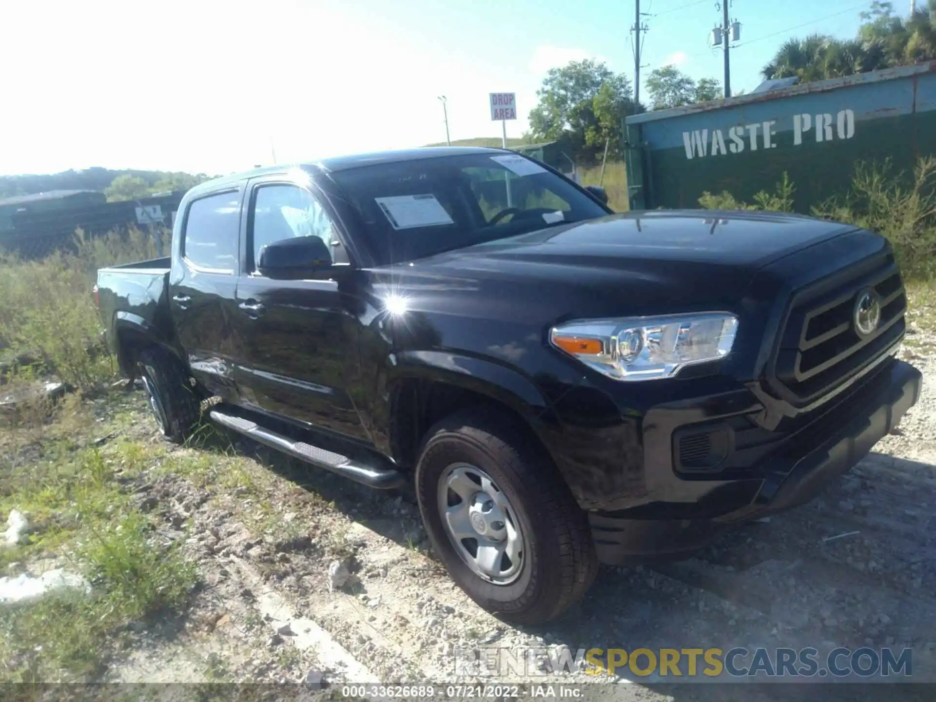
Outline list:
[[[331,174],[363,221],[378,264],[607,214],[519,154],[430,157]]]

